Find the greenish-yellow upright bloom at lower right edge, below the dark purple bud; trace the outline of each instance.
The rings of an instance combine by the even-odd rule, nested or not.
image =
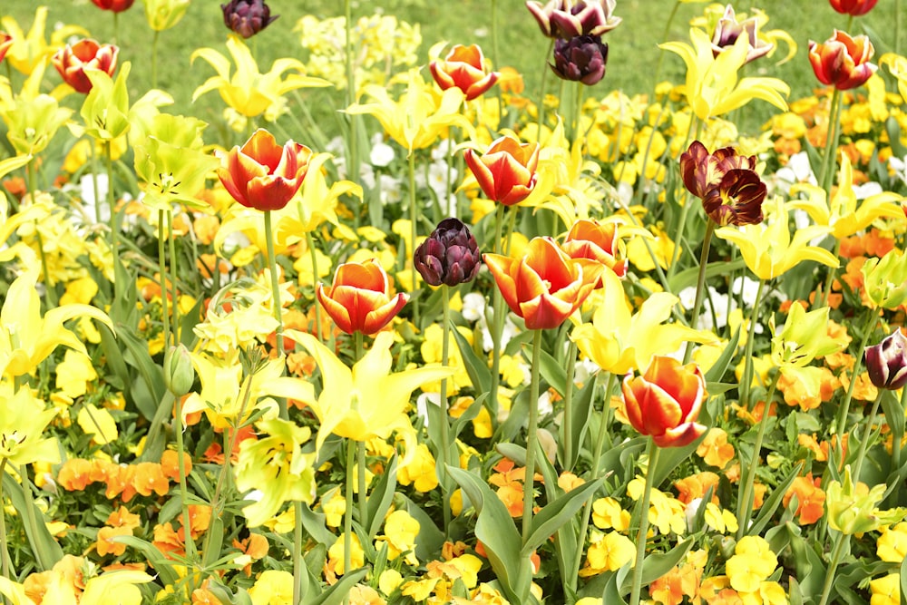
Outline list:
[[[900,522],[907,508],[882,511],[878,507],[885,497],[885,484],[861,490],[853,483],[850,464],[844,467],[844,481],[833,481],[825,490],[828,526],[847,535],[873,532],[885,525]]]

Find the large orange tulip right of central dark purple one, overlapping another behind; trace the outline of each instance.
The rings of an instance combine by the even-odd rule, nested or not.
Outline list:
[[[483,255],[507,306],[526,321],[526,328],[560,326],[599,281],[602,266],[571,259],[551,238],[533,238],[522,259]]]

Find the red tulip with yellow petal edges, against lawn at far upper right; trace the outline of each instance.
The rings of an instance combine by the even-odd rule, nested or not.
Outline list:
[[[873,43],[865,35],[834,30],[834,35],[822,44],[809,41],[809,62],[819,82],[833,84],[839,91],[863,85],[878,66],[869,63],[873,58]]]

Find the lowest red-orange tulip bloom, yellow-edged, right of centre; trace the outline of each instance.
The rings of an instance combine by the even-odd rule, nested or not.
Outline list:
[[[699,368],[671,357],[654,357],[644,376],[630,374],[623,382],[629,424],[659,447],[681,447],[706,432],[696,422],[705,396]]]

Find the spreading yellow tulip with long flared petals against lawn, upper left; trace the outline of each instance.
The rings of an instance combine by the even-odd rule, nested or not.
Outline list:
[[[253,118],[278,104],[283,95],[290,91],[330,86],[327,80],[304,75],[305,67],[297,59],[278,59],[271,65],[270,71],[258,72],[258,63],[255,63],[249,46],[235,35],[228,38],[227,50],[236,63],[236,73],[232,75],[229,59],[213,48],[200,48],[192,53],[191,62],[200,57],[218,73],[195,89],[195,93],[192,93],[193,102],[204,93],[218,91],[220,98],[231,108],[247,118]],[[289,70],[296,70],[296,73],[282,78]]]

